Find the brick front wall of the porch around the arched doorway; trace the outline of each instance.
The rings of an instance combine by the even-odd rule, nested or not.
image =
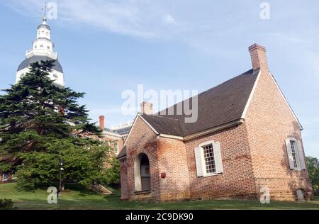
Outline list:
[[[121,163],[121,191],[123,199],[138,199],[141,197],[152,198],[159,201],[159,172],[157,159],[157,135],[142,121],[137,118],[135,126],[130,133],[130,138],[126,142],[127,159],[126,163]],[[135,195],[134,163],[140,153],[145,153],[150,160],[151,173],[151,194]],[[126,165],[126,172],[125,172]],[[127,187],[126,187],[127,186]]]

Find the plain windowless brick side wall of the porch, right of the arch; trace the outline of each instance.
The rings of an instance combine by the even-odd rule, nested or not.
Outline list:
[[[157,157],[161,201],[190,198],[189,169],[184,142],[158,138]],[[162,173],[166,174],[166,178],[161,177]]]

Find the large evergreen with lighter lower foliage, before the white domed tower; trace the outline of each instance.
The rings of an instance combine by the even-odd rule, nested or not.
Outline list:
[[[0,172],[15,172],[21,187],[34,189],[57,182],[64,159],[65,181],[98,184],[108,147],[79,138],[101,130],[89,123],[85,106],[77,103],[84,93],[56,86],[49,78],[53,64],[33,63],[0,96]]]

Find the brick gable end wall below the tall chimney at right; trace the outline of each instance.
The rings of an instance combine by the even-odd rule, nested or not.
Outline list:
[[[308,172],[291,171],[286,152],[286,138],[302,141],[301,128],[267,70],[259,78],[245,123],[257,189],[268,186],[276,200],[294,200],[298,189],[310,196]]]

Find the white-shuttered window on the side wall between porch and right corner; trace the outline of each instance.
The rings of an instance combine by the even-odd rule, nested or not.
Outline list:
[[[203,142],[194,151],[197,177],[209,177],[223,173],[220,142]]]

